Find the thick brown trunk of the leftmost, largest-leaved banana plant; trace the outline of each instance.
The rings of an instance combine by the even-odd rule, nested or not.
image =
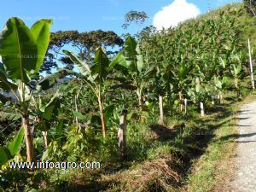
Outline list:
[[[33,146],[33,137],[31,132],[31,127],[29,125],[29,116],[23,115],[22,125],[25,129],[25,141],[26,141],[26,156],[27,162],[36,162],[36,154]]]

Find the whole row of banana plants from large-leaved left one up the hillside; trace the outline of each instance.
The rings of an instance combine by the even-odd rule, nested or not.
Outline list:
[[[236,91],[239,98],[241,79],[248,74],[244,65],[247,52],[238,39],[240,31],[235,20],[223,13],[215,19],[190,20],[186,25],[161,32],[148,27],[137,40],[128,36],[118,55],[109,56],[100,47],[89,62],[63,50],[79,73],[59,68],[58,72],[38,79],[49,46],[51,25],[51,20],[38,20],[28,28],[22,20],[11,18],[0,35],[0,88],[13,95],[0,94],[2,105],[12,108],[11,113],[1,112],[1,115],[6,119],[22,119],[14,140],[0,147],[0,165],[15,157],[24,136],[27,161],[37,158],[33,141],[36,133],[43,134],[47,148],[61,143],[64,126],[72,128],[67,133],[67,137],[72,137],[73,128],[86,130],[100,119],[102,137],[108,137],[108,129],[119,125],[122,109],[128,109],[131,119],[136,118],[131,114],[134,110],[139,116],[157,110],[160,123],[165,123],[165,113],[178,110],[185,114],[189,103],[201,109],[203,116],[207,103],[221,103],[226,90]],[[66,76],[69,83],[57,86],[56,79]],[[84,96],[84,89],[85,95],[93,95]],[[132,102],[129,100],[136,97]],[[73,120],[65,119],[69,110],[65,98],[74,103]],[[78,105],[86,102],[88,105],[90,100],[97,102],[99,115],[93,115],[89,122]],[[55,135],[49,140],[52,129]],[[47,158],[46,152],[43,158]]]

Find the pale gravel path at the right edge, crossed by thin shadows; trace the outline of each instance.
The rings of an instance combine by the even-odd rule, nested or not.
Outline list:
[[[256,191],[256,102],[244,105],[239,114],[236,175],[230,182],[231,191]]]

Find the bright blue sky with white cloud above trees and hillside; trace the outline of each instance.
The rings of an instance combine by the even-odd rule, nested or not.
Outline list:
[[[0,27],[13,16],[24,20],[27,26],[39,19],[50,18],[54,20],[52,32],[102,29],[121,35],[124,33],[121,27],[124,15],[131,9],[148,14],[143,26],[154,25],[161,29],[206,13],[207,2],[210,2],[211,9],[215,9],[241,0],[2,0]],[[128,32],[135,32],[143,26],[131,26]]]

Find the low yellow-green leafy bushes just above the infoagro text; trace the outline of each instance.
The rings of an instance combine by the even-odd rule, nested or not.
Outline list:
[[[116,130],[108,132],[108,138],[103,139],[96,131],[87,126],[79,129],[73,125],[67,129],[66,142],[61,145],[57,142],[49,143],[44,152],[43,160],[54,161],[102,161],[107,163],[117,155]]]

